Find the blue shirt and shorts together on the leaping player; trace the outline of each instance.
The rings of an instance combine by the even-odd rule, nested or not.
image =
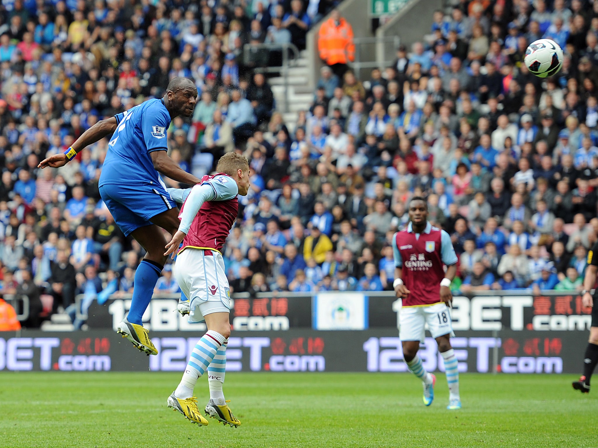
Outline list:
[[[167,151],[170,115],[162,100],[151,99],[114,118],[118,125],[102,166],[100,195],[117,225],[129,235],[176,206],[151,159],[152,152]]]

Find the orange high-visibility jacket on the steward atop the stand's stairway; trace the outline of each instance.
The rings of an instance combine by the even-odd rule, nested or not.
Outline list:
[[[328,65],[346,64],[347,57],[355,60],[355,45],[353,44],[353,28],[342,17],[340,24],[328,19],[322,23],[318,32],[318,51],[321,59]]]

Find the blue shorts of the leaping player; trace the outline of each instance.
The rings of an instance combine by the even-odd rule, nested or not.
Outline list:
[[[107,183],[100,186],[100,195],[126,237],[140,227],[151,225],[152,217],[176,207],[160,184]]]

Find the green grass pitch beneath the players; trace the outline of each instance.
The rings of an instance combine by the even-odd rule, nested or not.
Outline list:
[[[448,411],[438,375],[228,373],[240,428],[192,425],[166,407],[178,373],[0,373],[0,447],[596,447],[598,399],[572,375],[461,375]],[[200,409],[206,379],[196,388]]]

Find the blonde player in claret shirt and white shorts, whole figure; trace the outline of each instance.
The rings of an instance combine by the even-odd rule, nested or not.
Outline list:
[[[216,171],[218,174],[204,176],[191,189],[169,189],[172,199],[183,205],[181,225],[166,245],[165,255],[174,254],[182,242],[175,278],[189,300],[189,321],[205,320],[208,332],[191,352],[181,383],[168,397],[167,405],[191,422],[208,425],[193,396],[197,380],[207,370],[210,400],[206,415],[225,425],[239,426],[241,422],[233,416],[222,392],[230,336],[230,292],[221,250],[237,219],[237,195],[245,196],[249,189],[249,164],[244,156],[229,152],[220,158]]]

